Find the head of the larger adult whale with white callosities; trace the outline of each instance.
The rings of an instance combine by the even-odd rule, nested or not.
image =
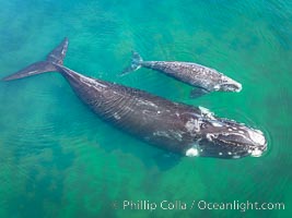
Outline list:
[[[267,149],[264,133],[232,120],[201,118],[199,136],[186,156],[215,158],[259,157]]]

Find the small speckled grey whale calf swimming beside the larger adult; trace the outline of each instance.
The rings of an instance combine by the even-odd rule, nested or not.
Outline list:
[[[132,51],[131,64],[120,75],[128,74],[140,68],[148,68],[174,77],[195,88],[190,97],[199,97],[211,92],[241,92],[242,85],[214,69],[192,62],[179,61],[143,61],[141,56]]]

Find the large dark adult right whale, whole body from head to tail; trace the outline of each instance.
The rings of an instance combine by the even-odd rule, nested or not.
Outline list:
[[[177,104],[143,90],[81,75],[62,65],[68,39],[45,61],[2,78],[59,72],[101,119],[151,145],[183,156],[260,156],[267,141],[259,130],[215,117],[201,107]]]

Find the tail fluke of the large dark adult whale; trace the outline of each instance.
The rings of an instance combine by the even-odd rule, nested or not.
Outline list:
[[[68,38],[65,38],[60,45],[49,52],[45,61],[35,62],[16,73],[3,77],[2,81],[13,81],[46,72],[59,72],[60,68],[58,68],[58,65],[62,65],[67,48]]]

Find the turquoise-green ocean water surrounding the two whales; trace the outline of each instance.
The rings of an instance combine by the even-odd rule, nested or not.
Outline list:
[[[260,129],[268,152],[237,160],[163,159],[102,122],[57,73],[0,82],[1,218],[291,217],[291,2],[0,0],[0,76],[43,60],[65,36],[70,69]],[[214,68],[243,90],[189,99],[189,86],[154,71],[119,77],[132,49],[145,60]],[[125,201],[157,208],[124,209]],[[162,201],[188,207],[162,209]],[[191,209],[194,201],[284,203],[284,209]]]

